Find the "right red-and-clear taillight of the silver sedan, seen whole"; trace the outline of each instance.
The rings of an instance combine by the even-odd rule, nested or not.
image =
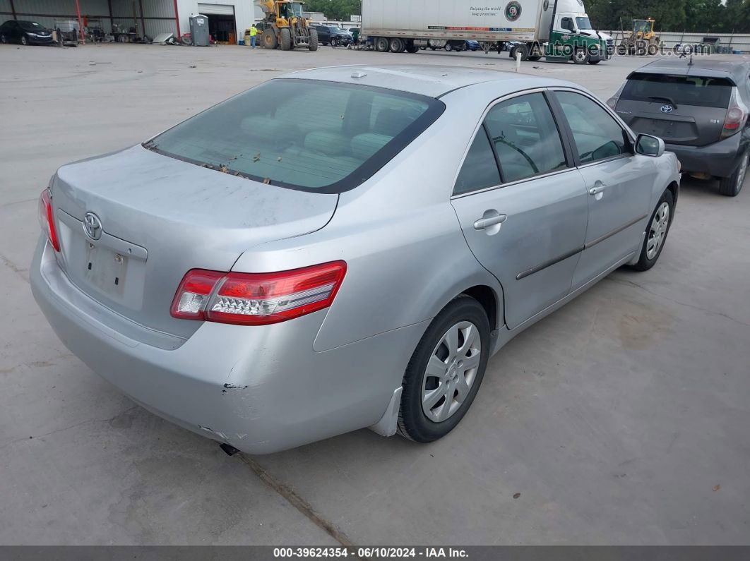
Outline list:
[[[331,306],[346,273],[344,261],[281,273],[193,269],[172,300],[172,316],[222,324],[278,324]]]

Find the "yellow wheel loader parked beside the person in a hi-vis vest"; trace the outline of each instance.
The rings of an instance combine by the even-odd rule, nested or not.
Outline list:
[[[318,49],[318,32],[310,26],[310,20],[302,16],[302,2],[292,0],[260,0],[266,13],[260,35],[260,44],[266,49],[289,51],[295,47]]]

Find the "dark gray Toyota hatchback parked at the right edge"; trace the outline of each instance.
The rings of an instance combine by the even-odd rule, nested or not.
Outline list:
[[[750,158],[750,61],[661,58],[628,76],[607,104],[637,133],[658,136],[682,172],[742,189]]]

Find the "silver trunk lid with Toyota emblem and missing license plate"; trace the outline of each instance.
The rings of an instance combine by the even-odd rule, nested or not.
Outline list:
[[[58,170],[58,262],[81,291],[114,312],[188,337],[199,322],[169,314],[188,270],[228,271],[251,246],[323,228],[337,201],[135,146]]]

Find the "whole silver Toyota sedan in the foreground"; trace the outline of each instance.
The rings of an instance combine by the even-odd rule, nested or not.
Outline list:
[[[679,164],[571,82],[272,79],[40,196],[34,296],[143,407],[245,452],[443,437],[513,336],[664,248]]]

